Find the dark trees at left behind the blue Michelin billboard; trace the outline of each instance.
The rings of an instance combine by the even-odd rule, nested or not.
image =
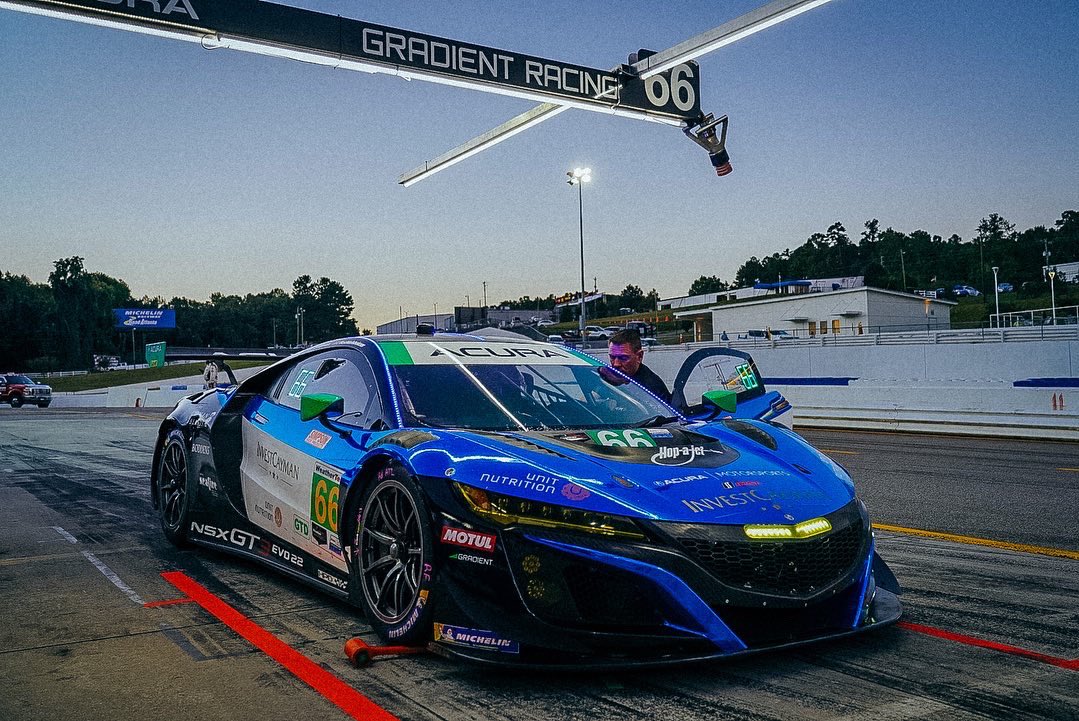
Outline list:
[[[123,281],[90,272],[73,256],[53,263],[47,283],[0,272],[0,371],[80,370],[96,356],[142,362],[147,342],[195,348],[267,348],[358,335],[352,295],[337,281],[301,275],[292,291],[246,296],[215,293],[208,301],[133,298]],[[170,308],[173,330],[128,332],[114,326],[117,308]],[[367,330],[366,332],[370,332]]]

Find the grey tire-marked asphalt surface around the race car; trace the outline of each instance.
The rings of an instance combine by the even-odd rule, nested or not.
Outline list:
[[[1079,666],[960,642],[1079,658],[1079,560],[898,532],[878,549],[917,626],[647,672],[354,669],[344,641],[375,639],[349,607],[164,540],[147,480],[163,414],[0,408],[0,719],[347,718],[194,603],[145,607],[182,596],[172,570],[401,719],[1079,719]],[[1079,445],[805,435],[878,523],[1079,550]]]

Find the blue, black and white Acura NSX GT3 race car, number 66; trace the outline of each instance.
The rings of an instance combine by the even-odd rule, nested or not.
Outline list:
[[[612,373],[527,339],[323,343],[181,400],[153,503],[174,543],[476,662],[658,665],[899,618],[853,482],[771,420],[748,355],[691,354],[677,407]]]

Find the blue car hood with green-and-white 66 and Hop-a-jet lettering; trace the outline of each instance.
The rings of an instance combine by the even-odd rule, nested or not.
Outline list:
[[[718,423],[435,431],[446,453],[423,453],[425,467],[418,470],[581,511],[698,523],[800,522],[855,498],[846,472],[800,436],[767,423],[735,423],[741,432]]]

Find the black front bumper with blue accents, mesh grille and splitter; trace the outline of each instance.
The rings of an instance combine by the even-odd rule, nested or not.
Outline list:
[[[740,527],[720,526],[656,523],[650,543],[502,531],[483,581],[472,569],[442,566],[443,597],[454,601],[441,604],[435,621],[490,630],[518,651],[432,647],[502,666],[638,667],[787,648],[896,622],[899,599],[874,583],[860,504],[831,520],[828,536],[784,544],[739,540],[733,531]]]

